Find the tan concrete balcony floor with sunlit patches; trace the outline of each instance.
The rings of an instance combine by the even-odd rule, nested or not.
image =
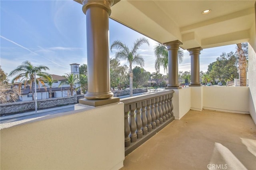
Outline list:
[[[250,115],[190,110],[125,157],[121,170],[255,170]]]

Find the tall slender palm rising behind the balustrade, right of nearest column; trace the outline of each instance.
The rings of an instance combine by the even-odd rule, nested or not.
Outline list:
[[[112,48],[116,48],[118,51],[115,54],[116,59],[127,60],[129,63],[129,75],[130,75],[130,96],[132,96],[132,64],[140,65],[140,67],[144,66],[144,59],[140,54],[137,53],[138,48],[143,43],[149,45],[148,39],[140,38],[134,42],[132,49],[129,49],[124,43],[116,40],[112,43],[110,50],[112,52]]]

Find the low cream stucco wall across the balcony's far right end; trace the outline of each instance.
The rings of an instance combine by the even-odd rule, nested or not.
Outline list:
[[[202,86],[203,109],[249,114],[249,87]]]

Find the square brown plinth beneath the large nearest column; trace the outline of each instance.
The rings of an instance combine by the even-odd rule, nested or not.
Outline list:
[[[117,103],[119,101],[120,101],[119,97],[112,97],[110,99],[102,99],[102,100],[79,99],[79,104],[97,107],[97,106]]]

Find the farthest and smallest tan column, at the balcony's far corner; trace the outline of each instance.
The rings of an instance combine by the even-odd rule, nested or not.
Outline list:
[[[201,86],[200,83],[200,67],[199,55],[202,50],[201,47],[187,49],[191,56],[191,84],[189,86]]]

